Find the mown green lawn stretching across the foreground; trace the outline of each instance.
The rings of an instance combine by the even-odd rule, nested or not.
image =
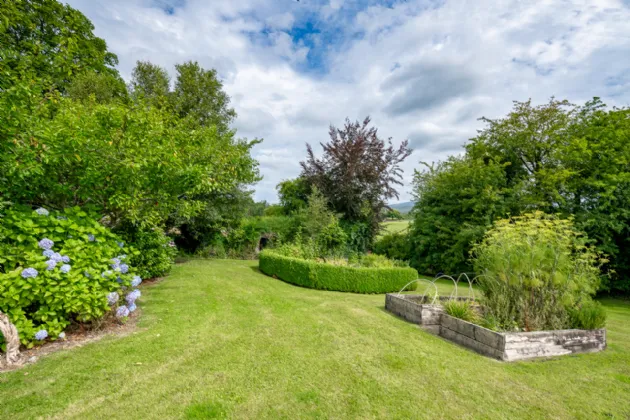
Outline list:
[[[135,334],[0,374],[0,418],[630,417],[627,303],[605,302],[605,352],[505,364],[256,265],[178,265]]]

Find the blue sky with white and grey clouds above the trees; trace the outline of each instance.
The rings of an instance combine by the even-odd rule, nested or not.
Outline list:
[[[69,0],[129,80],[138,60],[215,68],[263,180],[257,200],[300,173],[306,143],[372,118],[420,162],[459,154],[514,100],[630,104],[630,0]],[[316,150],[320,150],[316,148]]]

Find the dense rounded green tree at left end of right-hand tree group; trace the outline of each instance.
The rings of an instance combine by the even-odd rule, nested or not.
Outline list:
[[[451,157],[415,172],[412,265],[427,274],[471,271],[471,244],[509,212],[504,170],[492,160]]]

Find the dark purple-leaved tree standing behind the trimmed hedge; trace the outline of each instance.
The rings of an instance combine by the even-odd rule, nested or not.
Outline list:
[[[307,159],[301,162],[302,177],[316,186],[326,197],[331,209],[346,224],[360,224],[360,229],[347,227],[351,245],[365,250],[371,247],[384,220],[387,200],[398,198],[395,187],[402,185],[400,164],[411,154],[408,142],[394,148],[378,137],[370,119],[361,122],[346,120],[343,129],[330,127],[330,142],[322,143],[323,156],[318,158],[307,145]]]

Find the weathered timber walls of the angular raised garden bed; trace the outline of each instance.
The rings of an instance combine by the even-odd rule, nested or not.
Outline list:
[[[460,298],[461,299],[461,298]],[[446,300],[446,298],[441,298]],[[385,295],[385,309],[425,330],[484,356],[512,362],[539,357],[593,353],[606,348],[606,329],[495,332],[454,318],[422,295]]]

